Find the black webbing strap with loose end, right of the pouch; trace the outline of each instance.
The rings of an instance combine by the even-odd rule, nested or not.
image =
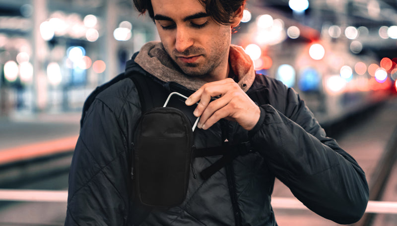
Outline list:
[[[226,142],[225,145],[220,147],[196,149],[193,152],[193,155],[195,158],[222,155],[222,157],[215,161],[215,163],[200,172],[201,178],[206,180],[215,172],[232,162],[237,156],[247,155],[252,151],[251,143],[249,141],[233,145]]]

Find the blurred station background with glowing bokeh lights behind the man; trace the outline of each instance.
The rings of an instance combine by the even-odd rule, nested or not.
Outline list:
[[[132,0],[0,0],[0,226],[63,225],[84,100],[152,40]],[[371,200],[397,201],[397,0],[248,0],[232,43],[300,93],[363,167]],[[293,199],[279,181],[273,196]],[[395,226],[396,213],[356,225]],[[336,225],[307,209],[275,214],[280,226]]]

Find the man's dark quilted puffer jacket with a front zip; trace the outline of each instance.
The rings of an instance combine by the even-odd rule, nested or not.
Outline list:
[[[145,73],[132,59],[126,74],[136,72]],[[339,224],[358,221],[368,202],[364,172],[326,136],[299,95],[263,75],[256,76],[247,94],[261,107],[252,131],[222,119],[206,131],[197,129],[195,145],[249,140],[255,152],[237,157],[207,180],[191,172],[183,204],[153,209],[141,225],[275,226],[270,206],[275,177],[317,214]],[[96,96],[74,151],[65,225],[133,224],[139,210],[132,202],[132,137],[140,108],[128,78]],[[200,172],[219,158],[196,158],[192,169]]]

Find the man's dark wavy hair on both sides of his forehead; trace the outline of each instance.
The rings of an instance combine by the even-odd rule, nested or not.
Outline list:
[[[233,13],[246,0],[198,0],[204,7],[206,13],[212,17],[216,22],[227,25],[231,23]],[[140,13],[149,13],[150,18],[153,19],[153,6],[150,0],[133,0],[135,8]]]

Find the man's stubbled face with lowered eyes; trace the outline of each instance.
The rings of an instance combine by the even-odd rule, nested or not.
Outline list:
[[[216,79],[228,66],[231,26],[217,24],[198,0],[151,0],[169,56],[189,76]]]

